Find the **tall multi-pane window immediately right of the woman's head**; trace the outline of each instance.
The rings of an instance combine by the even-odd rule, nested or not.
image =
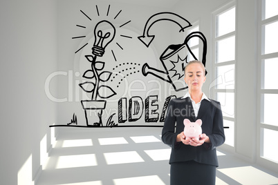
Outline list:
[[[214,98],[221,103],[225,127],[225,144],[234,147],[234,81],[236,66],[236,7],[229,4],[214,16]],[[210,90],[211,91],[211,90]]]

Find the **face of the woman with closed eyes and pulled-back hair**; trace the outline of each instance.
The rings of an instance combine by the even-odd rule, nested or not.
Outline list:
[[[190,64],[186,67],[185,83],[189,90],[202,90],[205,74],[200,64]]]

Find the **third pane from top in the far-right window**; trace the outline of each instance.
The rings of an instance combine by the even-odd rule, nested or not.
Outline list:
[[[277,83],[278,58],[264,61],[264,88],[278,89]]]

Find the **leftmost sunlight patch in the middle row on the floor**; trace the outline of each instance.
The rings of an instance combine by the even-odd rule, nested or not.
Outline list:
[[[78,168],[85,166],[98,166],[95,154],[59,156],[56,168]]]

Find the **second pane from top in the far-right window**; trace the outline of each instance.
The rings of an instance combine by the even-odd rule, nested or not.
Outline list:
[[[278,52],[278,21],[265,26],[264,54]]]

